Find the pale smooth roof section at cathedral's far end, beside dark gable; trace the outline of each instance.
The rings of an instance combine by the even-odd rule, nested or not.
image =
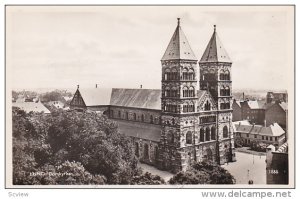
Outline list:
[[[79,92],[86,106],[109,105],[111,88],[80,88]]]

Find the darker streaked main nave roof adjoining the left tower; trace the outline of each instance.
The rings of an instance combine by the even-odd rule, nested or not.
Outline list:
[[[161,110],[159,89],[112,89],[110,105]]]

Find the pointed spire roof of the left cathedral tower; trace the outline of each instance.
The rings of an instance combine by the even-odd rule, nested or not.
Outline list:
[[[197,60],[181,29],[180,18],[177,18],[177,27],[161,60],[174,59]]]

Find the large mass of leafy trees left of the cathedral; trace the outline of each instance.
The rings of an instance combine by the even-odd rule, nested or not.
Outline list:
[[[58,110],[46,115],[13,110],[15,184],[85,184],[76,179],[50,180],[29,175],[48,172],[49,168],[56,171],[66,161],[76,163],[68,167],[71,171],[82,167],[94,179],[101,176],[108,184],[130,184],[140,171],[131,140],[119,134],[117,125],[105,116],[93,112]],[[88,183],[91,182],[94,181]]]

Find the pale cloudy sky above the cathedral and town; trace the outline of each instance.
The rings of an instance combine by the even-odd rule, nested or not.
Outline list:
[[[7,84],[160,88],[178,17],[198,59],[217,26],[233,89],[293,84],[293,7],[280,6],[7,6]]]

